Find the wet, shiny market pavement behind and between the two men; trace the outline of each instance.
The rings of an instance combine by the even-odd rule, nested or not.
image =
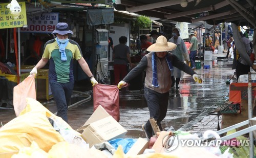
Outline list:
[[[213,54],[214,55],[214,54]],[[223,54],[225,56],[225,54]],[[194,82],[190,75],[185,74],[180,81],[180,88],[170,89],[168,110],[165,119],[162,121],[163,128],[173,126],[176,130],[187,130],[191,132],[202,132],[202,130],[216,129],[216,116],[208,115],[208,112],[214,110],[228,100],[229,86],[226,80],[229,80],[234,71],[231,70],[232,59],[217,59],[203,61],[201,60],[201,69],[195,70],[203,78],[203,83]],[[203,64],[210,64],[210,69],[203,69]],[[232,82],[232,80],[230,81]],[[88,86],[82,83],[74,88],[76,91],[86,92]],[[71,104],[84,99],[74,94]],[[56,112],[54,101],[40,101],[52,112]],[[149,119],[144,92],[141,91],[120,91],[120,121],[119,123],[128,131],[125,138],[145,138],[141,125]],[[73,129],[77,129],[87,121],[93,113],[93,98],[86,103],[69,109],[69,124]],[[13,109],[0,109],[0,122],[6,124],[15,118]]]

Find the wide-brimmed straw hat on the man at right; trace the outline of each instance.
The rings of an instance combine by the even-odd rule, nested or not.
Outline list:
[[[147,48],[148,52],[167,52],[176,49],[176,44],[172,42],[167,42],[164,36],[159,36],[156,43],[152,44]]]

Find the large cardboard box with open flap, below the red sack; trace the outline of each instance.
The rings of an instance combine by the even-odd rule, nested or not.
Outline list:
[[[83,130],[81,137],[89,143],[90,148],[105,141],[123,138],[127,133],[112,116],[98,106],[92,116],[77,131]]]

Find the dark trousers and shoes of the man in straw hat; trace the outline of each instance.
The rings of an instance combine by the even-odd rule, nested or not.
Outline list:
[[[154,118],[157,121],[157,125],[160,130],[163,130],[161,121],[166,116],[169,92],[160,94],[153,91],[152,89],[144,87],[144,95],[148,110],[150,110],[150,117]],[[145,127],[147,130],[147,135],[149,135],[148,137],[152,137],[153,135],[150,135],[150,133],[153,133],[153,129],[149,120],[147,120]]]

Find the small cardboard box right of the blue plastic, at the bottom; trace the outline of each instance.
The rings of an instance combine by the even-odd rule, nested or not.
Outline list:
[[[148,143],[149,142],[147,140],[139,138],[131,147],[131,149],[126,153],[126,155],[135,156],[142,154],[144,150],[148,148]]]

